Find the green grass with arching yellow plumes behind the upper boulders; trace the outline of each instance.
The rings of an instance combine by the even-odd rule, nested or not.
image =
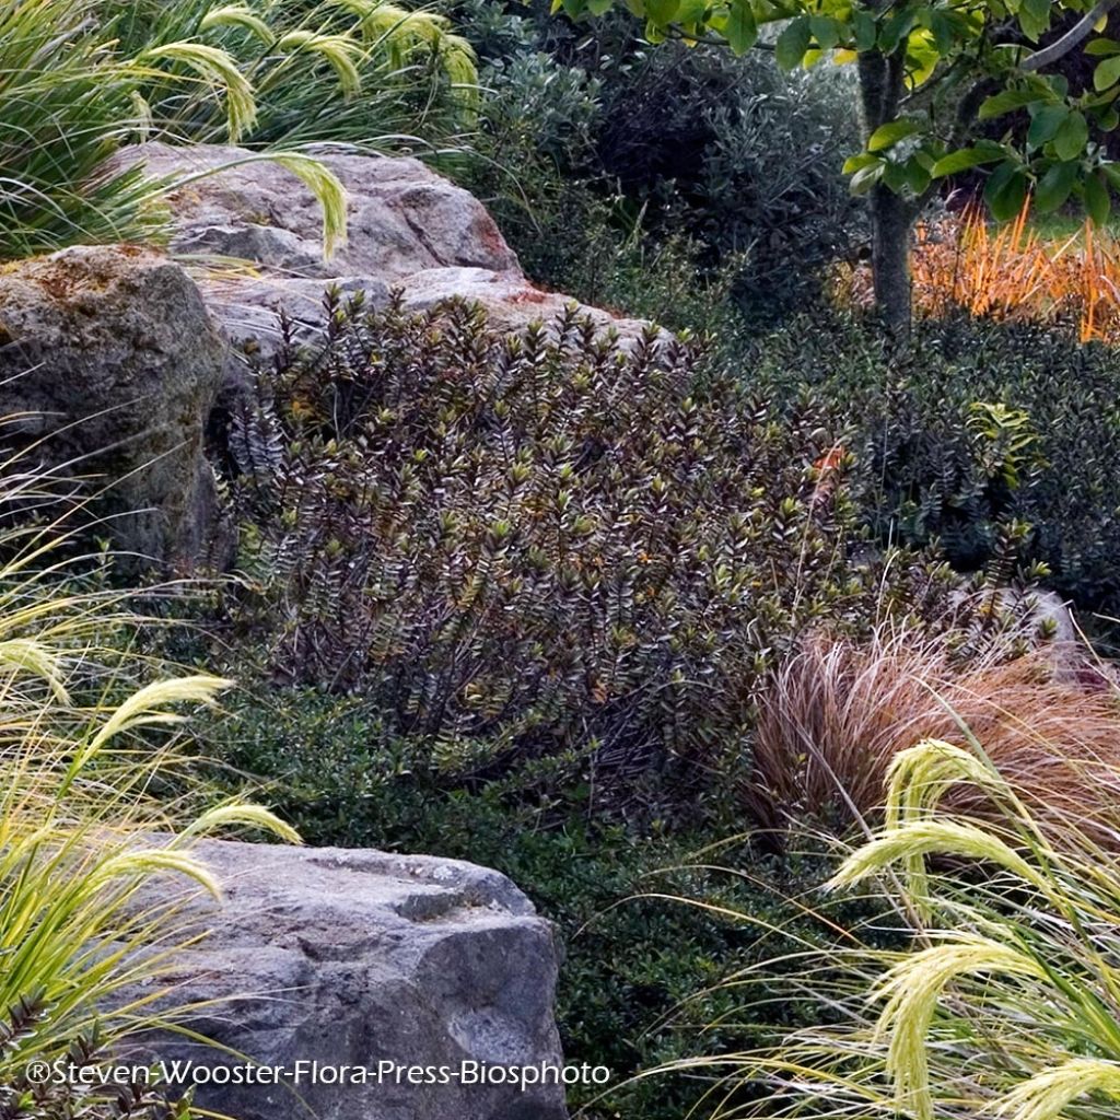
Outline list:
[[[473,124],[475,56],[445,17],[338,3],[25,0],[0,7],[0,260],[167,234],[141,140],[268,152],[345,233],[340,183],[304,146],[436,142]]]

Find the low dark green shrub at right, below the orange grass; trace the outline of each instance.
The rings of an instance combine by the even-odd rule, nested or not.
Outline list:
[[[753,383],[809,385],[856,429],[876,535],[937,538],[969,570],[1020,556],[1085,608],[1120,613],[1120,364],[1062,332],[971,319],[916,325],[896,353],[858,321],[803,319],[759,344]]]

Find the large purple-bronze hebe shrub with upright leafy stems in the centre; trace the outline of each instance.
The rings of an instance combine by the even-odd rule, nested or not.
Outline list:
[[[684,342],[575,311],[506,336],[461,302],[327,315],[233,422],[236,612],[274,674],[361,692],[417,765],[687,788],[806,627],[943,590],[936,564],[849,562],[819,411],[698,377]]]

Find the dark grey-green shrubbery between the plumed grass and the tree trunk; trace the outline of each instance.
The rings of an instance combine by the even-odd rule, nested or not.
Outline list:
[[[839,169],[858,136],[842,67],[651,49],[620,17],[588,36],[543,2],[461,0],[455,20],[484,63],[474,159],[456,174],[534,279],[674,327],[702,329],[721,301],[726,329],[736,305],[767,317],[815,300],[820,265],[861,242]],[[701,298],[651,306],[628,276],[640,240],[647,276],[672,269]]]

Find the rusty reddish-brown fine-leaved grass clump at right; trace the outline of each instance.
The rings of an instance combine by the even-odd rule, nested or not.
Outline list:
[[[908,629],[866,644],[811,641],[763,700],[748,808],[775,829],[806,816],[874,820],[899,752],[927,738],[967,746],[971,735],[1033,810],[1114,824],[1120,696],[1084,663],[1071,668],[1074,656],[993,652],[960,665],[943,637]],[[950,803],[982,809],[965,805],[963,790]]]

